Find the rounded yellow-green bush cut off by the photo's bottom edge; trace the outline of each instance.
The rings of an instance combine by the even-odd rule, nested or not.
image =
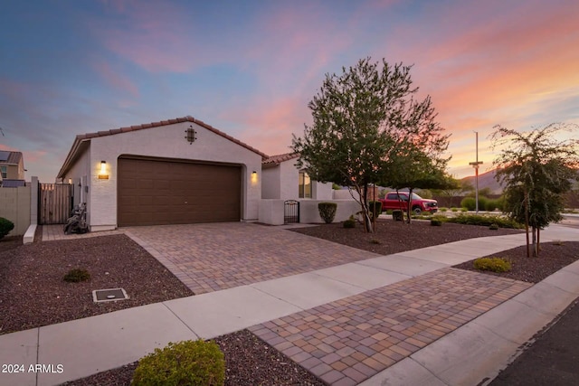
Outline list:
[[[131,385],[223,385],[225,360],[213,341],[184,341],[155,349],[138,361]]]

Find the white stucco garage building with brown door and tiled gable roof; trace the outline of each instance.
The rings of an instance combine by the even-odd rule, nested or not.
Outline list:
[[[185,117],[77,136],[57,178],[87,202],[90,231],[256,221],[266,158]]]

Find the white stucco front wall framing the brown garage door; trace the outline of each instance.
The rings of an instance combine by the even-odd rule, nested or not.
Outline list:
[[[192,144],[185,140],[185,130],[190,126],[197,132],[196,140]],[[117,227],[117,170],[120,155],[242,165],[242,221],[258,219],[262,179],[261,155],[195,123],[182,122],[90,139],[90,151],[87,152],[88,158],[84,167],[89,176],[87,185],[90,198],[87,204],[91,231]],[[101,161],[106,161],[109,179],[99,179]],[[77,165],[74,165],[73,169],[81,171],[82,167],[78,165],[77,169]],[[257,172],[255,178],[252,178],[253,171]],[[80,175],[77,172],[75,174]]]

